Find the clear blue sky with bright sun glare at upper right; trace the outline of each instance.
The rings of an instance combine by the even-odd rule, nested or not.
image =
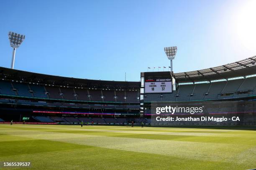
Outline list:
[[[223,65],[256,55],[255,9],[256,0],[1,0],[0,66],[10,67],[8,31],[26,35],[18,70],[139,81],[169,66],[168,46],[178,47],[174,72]]]

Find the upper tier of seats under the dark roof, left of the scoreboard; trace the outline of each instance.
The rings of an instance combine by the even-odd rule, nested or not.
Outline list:
[[[14,90],[13,90],[14,89]],[[119,91],[35,85],[0,80],[0,94],[64,100],[138,102],[139,91]],[[126,99],[125,99],[126,97]]]

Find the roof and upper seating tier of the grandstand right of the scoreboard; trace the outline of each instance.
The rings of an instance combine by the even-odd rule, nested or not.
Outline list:
[[[219,67],[173,73],[172,94],[143,95],[144,102],[249,100],[256,98],[256,56]]]

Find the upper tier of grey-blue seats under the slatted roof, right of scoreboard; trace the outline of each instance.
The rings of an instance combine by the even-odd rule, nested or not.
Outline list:
[[[176,97],[177,94],[179,95],[178,97]],[[146,94],[144,101],[218,100],[229,99],[232,97],[246,97],[249,95],[256,95],[256,77],[211,83],[198,83],[195,85],[179,85],[178,89],[173,93]]]

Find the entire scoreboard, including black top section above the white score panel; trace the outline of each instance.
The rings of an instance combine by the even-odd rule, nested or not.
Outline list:
[[[144,72],[145,93],[171,93],[171,72]]]

